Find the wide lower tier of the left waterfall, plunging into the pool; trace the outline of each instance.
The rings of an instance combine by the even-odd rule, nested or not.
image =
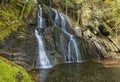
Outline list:
[[[38,41],[38,58],[37,58],[36,68],[49,68],[51,67],[51,64],[46,55],[42,37],[39,35],[37,30],[35,30],[35,36]]]

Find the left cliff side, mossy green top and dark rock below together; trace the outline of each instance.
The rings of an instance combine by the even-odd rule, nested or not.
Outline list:
[[[0,2],[1,56],[28,70],[34,67],[34,54],[36,53],[36,42],[35,39],[33,42],[32,38],[34,38],[37,22],[37,4],[36,0],[3,0]],[[32,51],[27,50],[29,47]]]

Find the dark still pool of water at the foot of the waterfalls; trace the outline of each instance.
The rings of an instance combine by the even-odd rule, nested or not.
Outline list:
[[[120,82],[120,64],[113,61],[60,64],[41,69],[39,82]]]

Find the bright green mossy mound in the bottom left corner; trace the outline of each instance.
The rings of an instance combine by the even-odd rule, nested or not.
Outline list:
[[[15,63],[0,57],[0,82],[34,82],[27,72]]]

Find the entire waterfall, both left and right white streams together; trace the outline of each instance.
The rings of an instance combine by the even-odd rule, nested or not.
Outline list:
[[[71,26],[72,23],[69,21],[68,17],[66,17],[63,13],[58,13],[55,9],[52,8],[52,10],[55,13],[55,19],[54,19],[54,25],[57,26],[60,19],[60,26],[63,33],[69,36],[69,42],[67,43],[67,53],[64,53],[64,60],[67,63],[73,63],[73,62],[80,62],[81,61],[81,55],[79,53],[77,43],[75,41],[74,35],[70,34],[66,27],[66,22],[68,22],[68,25]],[[42,17],[42,7],[39,5],[39,11],[38,11],[38,26],[35,30],[35,36],[38,41],[38,57],[36,62],[36,68],[50,68],[51,64],[47,57],[46,51],[44,49],[44,43],[42,41],[42,36],[40,35],[40,29],[44,28],[44,19]],[[61,38],[62,39],[62,38]],[[63,41],[63,40],[61,40]],[[63,43],[63,42],[61,42]],[[63,48],[65,46],[61,44]],[[64,51],[64,50],[63,50]]]

